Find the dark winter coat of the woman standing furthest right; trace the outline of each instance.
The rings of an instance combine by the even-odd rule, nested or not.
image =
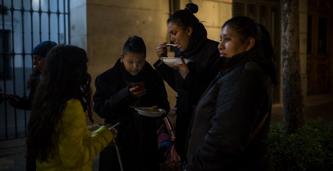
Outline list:
[[[198,102],[188,136],[187,170],[269,170],[267,134],[272,81],[255,51],[212,81]],[[235,58],[237,58],[235,56]],[[250,142],[250,134],[268,117]],[[248,144],[249,143],[249,144]]]

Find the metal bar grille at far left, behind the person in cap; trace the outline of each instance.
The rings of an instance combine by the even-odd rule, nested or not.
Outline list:
[[[50,40],[70,44],[69,0],[2,0],[0,6],[0,88],[27,98],[31,51]],[[0,140],[25,137],[30,111],[0,104]]]

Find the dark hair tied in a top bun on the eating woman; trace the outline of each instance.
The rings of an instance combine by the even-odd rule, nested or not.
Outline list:
[[[167,23],[169,24],[171,22],[177,24],[184,30],[191,26],[193,31],[195,31],[196,28],[199,27],[199,24],[201,24],[199,20],[193,15],[198,12],[198,9],[199,8],[197,5],[189,3],[186,5],[184,10],[178,10],[173,15],[171,15],[167,20]]]

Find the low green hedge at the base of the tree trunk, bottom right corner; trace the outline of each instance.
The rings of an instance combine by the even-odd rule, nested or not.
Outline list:
[[[310,120],[296,133],[271,126],[268,153],[279,170],[333,170],[333,131],[322,119]]]

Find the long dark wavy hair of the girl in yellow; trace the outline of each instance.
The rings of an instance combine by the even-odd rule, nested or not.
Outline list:
[[[58,134],[55,126],[61,124],[62,113],[70,99],[80,100],[92,121],[90,82],[87,54],[83,49],[59,45],[47,53],[45,73],[38,85],[29,121],[28,157],[45,161],[53,156],[56,144],[52,144],[52,136]]]

